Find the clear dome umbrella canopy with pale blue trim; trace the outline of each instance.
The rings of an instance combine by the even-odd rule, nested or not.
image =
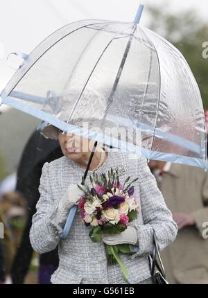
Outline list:
[[[28,55],[1,98],[61,130],[148,159],[206,168],[205,117],[193,73],[180,51],[135,22],[64,26]]]

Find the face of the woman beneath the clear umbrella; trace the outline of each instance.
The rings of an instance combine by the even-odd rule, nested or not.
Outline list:
[[[84,155],[89,155],[91,140],[85,137],[79,137],[69,132],[62,133],[60,130],[58,132],[58,141],[62,153],[69,159],[76,161],[82,159]]]

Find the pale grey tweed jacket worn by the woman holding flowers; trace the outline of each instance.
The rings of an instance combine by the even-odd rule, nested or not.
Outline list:
[[[146,159],[130,159],[128,153],[110,151],[97,173],[105,173],[111,167],[118,166],[123,166],[125,170],[120,177],[121,183],[128,176],[132,179],[139,177],[135,182],[135,195],[139,196],[141,211],[137,219],[130,222],[137,229],[139,252],[121,254],[121,258],[128,268],[128,283],[141,283],[150,278],[147,256],[153,251],[153,229],[159,249],[164,249],[175,240],[177,225]],[[119,265],[107,265],[104,243],[90,240],[88,234],[91,228],[85,227],[80,214],[76,214],[69,237],[61,240],[58,236],[62,231],[62,227],[55,222],[58,202],[69,184],[80,183],[83,174],[84,170],[67,157],[44,164],[40,178],[40,200],[30,231],[31,244],[40,254],[50,252],[58,245],[60,263],[51,277],[52,283],[125,283]],[[89,183],[89,174],[86,182]]]

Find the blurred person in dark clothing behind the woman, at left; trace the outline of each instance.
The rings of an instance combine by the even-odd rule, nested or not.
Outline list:
[[[46,139],[37,130],[33,132],[22,153],[17,170],[17,191],[21,192],[27,204],[27,220],[12,265],[12,283],[21,284],[26,281],[26,274],[33,258],[33,248],[29,239],[35,206],[40,198],[38,186],[44,163],[62,157],[58,141]],[[58,268],[58,249],[40,256],[38,283],[51,283],[51,274]],[[34,282],[34,281],[33,281]]]

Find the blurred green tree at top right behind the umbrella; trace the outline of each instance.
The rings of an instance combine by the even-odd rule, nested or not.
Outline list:
[[[150,22],[148,28],[162,35],[184,55],[198,82],[202,101],[208,109],[208,58],[202,57],[202,44],[208,42],[208,25],[194,10],[174,15],[168,5],[148,6]]]

